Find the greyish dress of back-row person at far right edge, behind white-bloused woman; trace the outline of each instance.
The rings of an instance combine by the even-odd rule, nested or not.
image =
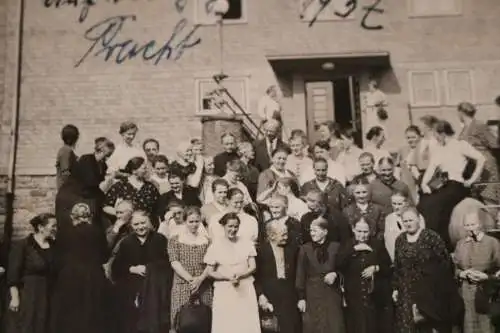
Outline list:
[[[484,170],[481,175],[481,182],[496,182],[481,188],[481,197],[492,202],[498,203],[500,200],[500,181],[498,174],[498,165],[491,149],[498,148],[498,142],[495,136],[488,130],[484,123],[473,120],[468,126],[465,126],[459,136],[460,140],[465,140],[474,148],[479,150],[486,158]]]

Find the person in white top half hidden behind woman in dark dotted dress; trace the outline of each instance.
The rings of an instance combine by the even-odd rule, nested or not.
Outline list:
[[[409,206],[409,198],[402,192],[395,192],[391,196],[392,213],[385,218],[384,242],[391,260],[394,261],[394,247],[396,238],[404,231],[401,212]],[[425,221],[420,215],[420,226],[425,228]]]

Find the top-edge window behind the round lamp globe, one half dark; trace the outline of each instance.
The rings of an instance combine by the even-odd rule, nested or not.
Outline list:
[[[215,24],[217,16],[213,11],[216,0],[195,0],[195,22],[197,24]],[[222,17],[224,23],[246,23],[247,22],[247,0],[228,0],[229,10]]]

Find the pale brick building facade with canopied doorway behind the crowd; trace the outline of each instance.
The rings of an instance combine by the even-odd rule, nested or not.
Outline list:
[[[230,0],[222,25],[214,0],[25,0],[23,15],[20,3],[0,3],[3,180],[19,96],[16,235],[29,212],[53,206],[64,124],[80,128],[79,154],[97,136],[118,140],[119,124],[132,120],[138,141],[158,138],[172,155],[217,112],[209,96],[221,70],[252,116],[278,86],[286,129],[311,139],[324,120],[366,131],[370,79],[386,95],[388,148],[425,114],[458,126],[461,101],[475,103],[481,119],[499,118],[496,0]]]

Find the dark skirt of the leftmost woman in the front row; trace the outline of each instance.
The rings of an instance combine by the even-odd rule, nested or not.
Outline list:
[[[30,275],[23,278],[19,290],[19,311],[6,310],[6,333],[46,333],[49,324],[49,292],[47,278]],[[9,306],[10,297],[6,303]]]

